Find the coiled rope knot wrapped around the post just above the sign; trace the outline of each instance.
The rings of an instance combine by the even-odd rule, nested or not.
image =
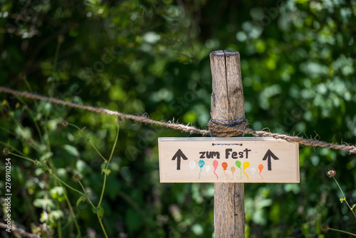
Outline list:
[[[247,125],[245,116],[236,120],[209,120],[210,135],[219,138],[231,138],[244,133]]]

